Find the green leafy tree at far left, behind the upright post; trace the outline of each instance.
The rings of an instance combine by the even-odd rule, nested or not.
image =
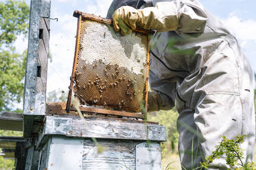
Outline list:
[[[25,1],[0,2],[0,111],[12,110],[23,97],[26,52],[16,53],[13,42],[26,34],[29,13]]]

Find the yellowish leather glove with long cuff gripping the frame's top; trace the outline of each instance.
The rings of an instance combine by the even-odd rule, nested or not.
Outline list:
[[[118,8],[112,18],[115,31],[121,29],[121,34],[125,35],[137,27],[143,29],[156,29],[159,32],[175,30],[178,27],[178,17],[172,10],[161,12],[159,6],[164,4],[157,3],[156,7],[136,10],[130,6]],[[172,7],[170,7],[172,9]],[[168,8],[166,8],[168,9]]]

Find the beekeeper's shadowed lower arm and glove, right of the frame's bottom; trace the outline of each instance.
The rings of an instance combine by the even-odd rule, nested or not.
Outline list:
[[[150,71],[150,88],[148,93],[148,112],[170,110],[174,107],[176,83],[157,77]]]

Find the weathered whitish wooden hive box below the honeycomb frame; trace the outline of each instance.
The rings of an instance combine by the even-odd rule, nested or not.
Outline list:
[[[62,112],[62,113],[61,113]],[[65,103],[47,107],[36,149],[40,169],[161,169],[165,127],[157,123],[65,114]]]

